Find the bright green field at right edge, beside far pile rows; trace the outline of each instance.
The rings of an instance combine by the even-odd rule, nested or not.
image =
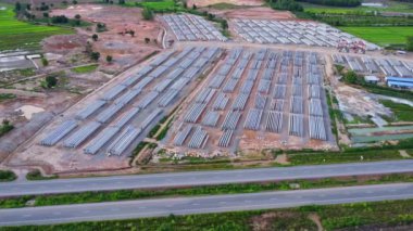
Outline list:
[[[385,26],[385,27],[339,27],[339,29],[358,36],[373,43],[386,47],[389,44],[405,44],[406,37],[413,35],[413,27]]]

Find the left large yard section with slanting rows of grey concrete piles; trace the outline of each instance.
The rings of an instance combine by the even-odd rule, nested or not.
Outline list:
[[[176,106],[176,103],[182,97],[189,93],[190,88],[196,87],[196,78],[203,74],[208,66],[220,55],[220,49],[187,48],[184,49],[184,51],[174,51],[175,54],[173,56],[163,53],[152,59],[151,61],[153,62],[146,62],[139,65],[138,68],[128,70],[114,81],[111,81],[109,85],[74,105],[64,114],[58,116],[53,123],[29,142],[22,152],[15,153],[9,164],[22,165],[22,163],[41,162],[42,165],[52,166],[53,172],[121,169],[128,167],[127,156],[132,153],[133,149],[146,138],[150,129],[157,125],[162,117],[167,115]],[[173,53],[170,52],[170,54]],[[165,55],[166,57],[164,57]],[[204,62],[198,62],[202,59]],[[186,61],[191,62],[188,63]],[[151,64],[157,62],[159,64]],[[190,68],[187,68],[188,66],[182,66],[191,63],[193,63],[195,66]],[[148,68],[150,66],[152,66],[152,68]],[[173,72],[176,68],[183,69],[182,75]],[[141,84],[146,78],[151,78],[152,80]],[[168,86],[166,89],[163,82],[167,79],[172,79],[172,81],[168,81],[170,84],[166,85],[166,87]],[[115,93],[112,92],[116,86],[122,85],[126,85],[126,89],[121,89]],[[177,93],[166,95],[166,92],[170,90],[175,90]],[[134,93],[136,91],[138,91],[138,93]],[[102,106],[95,107],[96,102],[105,98],[107,94],[111,95],[111,100],[103,102]],[[112,95],[115,97],[112,98]],[[171,99],[163,99],[165,95]],[[160,102],[162,100],[167,100],[167,103],[161,106]],[[87,110],[89,107],[92,108]],[[140,111],[132,116],[130,119],[121,123],[122,117],[127,116],[127,113],[134,108],[140,108]],[[152,113],[155,110],[160,111],[153,115]],[[76,116],[79,113],[84,116]],[[148,119],[148,117],[151,116],[152,118]],[[58,136],[58,133],[61,132],[57,130],[58,127],[68,119],[76,119],[76,128],[71,129],[67,134],[55,142],[46,142],[45,139],[52,139]],[[96,124],[96,121],[99,123]],[[126,137],[117,141],[112,138],[109,139],[111,142],[107,140],[108,143],[104,143],[98,149],[98,151],[93,153],[95,155],[84,154],[84,149],[95,141],[96,136],[99,134],[104,127],[121,126],[118,134],[122,134],[122,132],[127,129],[125,128],[126,124],[139,129],[139,132],[127,138],[127,143],[125,143]],[[85,126],[89,125],[93,125],[93,131],[85,130]],[[65,130],[65,128],[62,128],[62,130]],[[99,139],[103,138],[99,137]],[[117,142],[117,144],[113,144],[114,142]],[[123,143],[121,144],[121,142]],[[40,143],[43,143],[46,146],[39,145]],[[67,149],[67,146],[72,146],[72,149]],[[112,152],[112,149],[120,150],[120,152]],[[107,153],[115,153],[115,155],[108,157]]]

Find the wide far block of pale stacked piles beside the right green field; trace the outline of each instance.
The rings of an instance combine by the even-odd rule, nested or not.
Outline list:
[[[234,20],[235,31],[245,40],[256,43],[305,44],[337,47],[341,40],[361,40],[327,24],[299,21]],[[379,49],[366,42],[368,50]]]

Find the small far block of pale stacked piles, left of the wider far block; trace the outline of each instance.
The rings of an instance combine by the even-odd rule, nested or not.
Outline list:
[[[210,22],[201,16],[191,14],[164,15],[163,21],[168,25],[179,41],[226,41],[224,37]]]

